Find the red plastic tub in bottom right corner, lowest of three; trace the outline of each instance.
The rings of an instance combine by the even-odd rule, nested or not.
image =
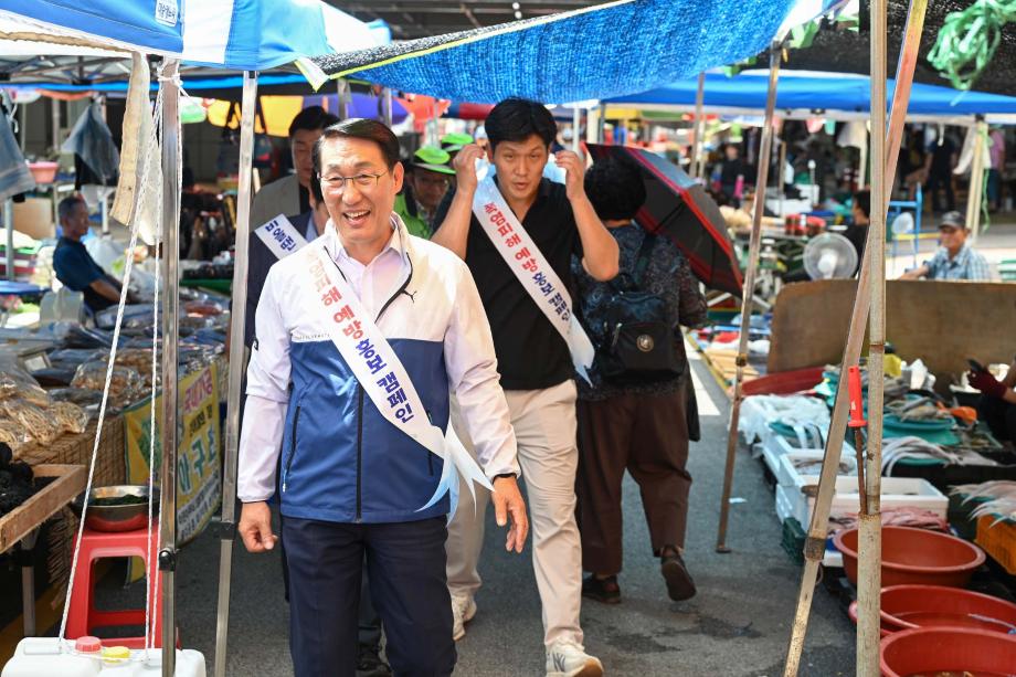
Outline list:
[[[967,627],[904,630],[882,639],[881,670],[885,677],[1007,677],[1016,674],[1016,635]]]

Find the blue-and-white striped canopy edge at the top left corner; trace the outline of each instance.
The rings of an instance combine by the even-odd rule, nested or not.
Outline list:
[[[0,0],[0,32],[50,42],[176,56],[187,63],[264,71],[391,41],[318,0]]]

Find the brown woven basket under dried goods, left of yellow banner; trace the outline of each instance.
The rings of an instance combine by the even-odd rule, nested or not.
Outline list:
[[[43,446],[31,444],[18,451],[18,459],[29,465],[65,464],[83,465],[92,463],[92,446],[95,444],[96,421],[88,423],[88,429],[80,435],[63,435],[56,442]],[[108,416],[103,425],[103,438],[99,441],[95,458],[95,477],[93,486],[105,487],[124,484],[127,478],[125,461],[124,417]]]

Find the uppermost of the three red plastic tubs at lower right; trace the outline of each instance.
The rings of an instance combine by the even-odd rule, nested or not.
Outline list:
[[[847,579],[857,585],[857,529],[833,537],[843,552]],[[963,588],[981,564],[984,552],[954,536],[913,529],[882,527],[882,585],[948,585]]]

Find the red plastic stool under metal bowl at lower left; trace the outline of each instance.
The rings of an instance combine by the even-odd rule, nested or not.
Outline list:
[[[155,539],[157,532],[152,533]],[[152,556],[157,556],[155,540],[152,541]],[[95,560],[112,557],[139,557],[147,563],[148,584],[151,585],[151,599],[158,599],[162,588],[162,572],[158,568],[158,558],[148,561],[148,530],[135,531],[94,531],[87,527],[81,539],[81,551],[77,556],[77,570],[74,574],[74,591],[71,596],[71,611],[67,613],[67,639],[76,639],[85,635],[95,634],[97,627],[145,625],[145,609],[127,609],[121,611],[100,611],[95,609],[95,581],[92,574]],[[152,604],[155,606],[155,604]],[[155,644],[162,646],[162,618],[161,609],[155,615]],[[180,648],[180,632],[177,628],[177,647]],[[145,648],[145,637],[115,637],[103,639],[104,645],[126,646],[128,648]]]

